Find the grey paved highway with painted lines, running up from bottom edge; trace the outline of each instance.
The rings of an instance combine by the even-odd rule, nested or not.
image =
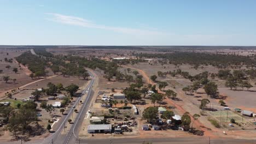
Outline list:
[[[91,73],[89,73],[91,76],[91,81],[89,85],[83,90],[80,97],[75,101],[74,106],[77,107],[80,99],[82,98],[82,95],[85,93],[88,93],[87,97],[85,98],[85,101],[79,110],[79,113],[77,117],[74,119],[73,124],[71,125],[71,128],[69,129],[68,133],[66,135],[61,134],[62,130],[65,128],[65,125],[69,117],[71,117],[72,113],[74,112],[74,108],[69,109],[69,112],[66,116],[62,117],[59,122],[57,122],[54,127],[56,127],[57,130],[55,130],[55,133],[51,134],[50,136],[46,137],[42,143],[44,144],[50,144],[50,143],[75,143],[76,140],[78,140],[78,133],[81,128],[81,125],[83,124],[84,117],[86,115],[86,112],[88,111],[93,92],[92,86],[94,85],[95,77]]]

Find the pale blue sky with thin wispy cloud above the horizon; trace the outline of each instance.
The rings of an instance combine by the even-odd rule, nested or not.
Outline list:
[[[0,0],[0,45],[256,45],[256,1]]]

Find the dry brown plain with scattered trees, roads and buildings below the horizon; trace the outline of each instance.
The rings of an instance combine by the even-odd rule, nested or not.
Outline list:
[[[150,49],[1,46],[1,141],[58,141],[72,129],[82,140],[253,139],[253,47]]]

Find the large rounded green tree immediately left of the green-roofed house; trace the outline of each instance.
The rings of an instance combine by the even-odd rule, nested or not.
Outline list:
[[[142,117],[148,122],[153,122],[158,117],[158,107],[147,107],[142,114]]]

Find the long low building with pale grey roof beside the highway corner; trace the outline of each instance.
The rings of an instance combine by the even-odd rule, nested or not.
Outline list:
[[[112,125],[111,124],[89,124],[87,132],[91,133],[111,133]]]

